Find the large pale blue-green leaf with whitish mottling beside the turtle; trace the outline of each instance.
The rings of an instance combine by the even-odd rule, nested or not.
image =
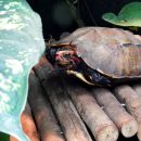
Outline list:
[[[41,20],[26,0],[0,0],[0,131],[28,141],[21,126],[28,75],[44,51]]]

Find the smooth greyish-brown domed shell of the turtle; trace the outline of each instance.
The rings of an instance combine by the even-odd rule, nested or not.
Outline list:
[[[92,69],[112,78],[141,77],[141,40],[119,28],[84,27],[57,43],[69,43]]]

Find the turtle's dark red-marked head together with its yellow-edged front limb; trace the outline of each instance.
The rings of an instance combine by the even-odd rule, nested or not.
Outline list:
[[[55,67],[63,68],[68,75],[74,75],[88,85],[110,86],[111,81],[99,72],[90,68],[78,57],[70,44],[51,44],[46,50],[47,60]]]

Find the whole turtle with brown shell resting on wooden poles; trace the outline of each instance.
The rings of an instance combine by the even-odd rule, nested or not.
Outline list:
[[[141,37],[111,27],[81,27],[48,43],[47,60],[92,86],[141,78]]]

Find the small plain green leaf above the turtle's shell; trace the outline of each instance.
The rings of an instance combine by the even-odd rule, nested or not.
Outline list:
[[[102,18],[118,26],[141,27],[141,2],[130,2],[120,10],[118,15],[105,13]]]

